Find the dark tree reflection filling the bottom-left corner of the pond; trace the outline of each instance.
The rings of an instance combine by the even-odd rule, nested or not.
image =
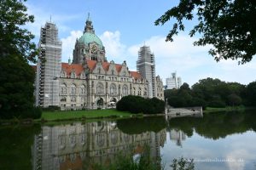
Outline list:
[[[40,131],[39,124],[1,127],[0,169],[32,169],[32,144]]]

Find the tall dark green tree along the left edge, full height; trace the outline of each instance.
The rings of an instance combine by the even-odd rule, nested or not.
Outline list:
[[[35,61],[36,45],[30,31],[22,28],[33,22],[26,14],[22,0],[0,3],[0,117],[40,117],[33,107],[35,72],[29,61]],[[37,113],[37,114],[36,114]]]

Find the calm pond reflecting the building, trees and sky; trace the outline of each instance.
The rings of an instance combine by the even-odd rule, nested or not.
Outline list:
[[[119,153],[193,159],[194,169],[256,169],[256,112],[0,128],[0,169],[92,169]]]

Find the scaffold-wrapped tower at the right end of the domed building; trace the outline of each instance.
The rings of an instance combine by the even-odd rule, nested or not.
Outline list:
[[[156,97],[154,54],[147,46],[143,46],[138,52],[137,71],[148,80],[149,98]]]

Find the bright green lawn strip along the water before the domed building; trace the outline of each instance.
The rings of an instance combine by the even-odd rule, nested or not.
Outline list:
[[[132,116],[129,112],[116,110],[90,110],[90,111],[43,111],[41,116],[46,121],[67,120],[78,118],[101,118],[101,117],[129,117]]]

